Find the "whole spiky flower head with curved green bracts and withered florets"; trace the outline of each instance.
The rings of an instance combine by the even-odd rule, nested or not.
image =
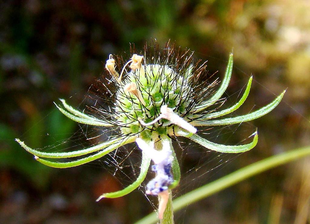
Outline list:
[[[246,100],[251,83],[250,77],[246,89],[239,101],[226,108],[210,106],[221,105],[224,91],[227,89],[233,65],[233,55],[229,55],[224,78],[218,84],[203,78],[206,73],[206,62],[193,62],[193,52],[180,50],[166,44],[160,50],[157,43],[146,45],[144,52],[131,49],[130,58],[109,55],[106,61],[104,75],[92,88],[94,106],[91,114],[86,114],[68,105],[60,99],[63,108],[56,107],[68,118],[86,125],[94,125],[106,129],[113,128],[117,135],[109,137],[106,142],[73,152],[47,153],[34,150],[16,139],[20,145],[35,155],[40,163],[47,166],[66,168],[74,167],[98,159],[117,148],[131,142],[136,142],[142,150],[141,171],[137,180],[121,191],[104,193],[101,198],[121,197],[138,188],[146,177],[151,160],[154,165],[152,171],[155,177],[147,184],[147,194],[159,195],[159,218],[168,200],[168,189],[175,188],[180,180],[180,167],[173,150],[171,138],[183,136],[197,142],[209,150],[223,153],[240,153],[252,149],[258,141],[257,132],[252,141],[245,145],[221,145],[210,142],[196,134],[197,127],[232,125],[259,118],[281,101],[282,92],[270,104],[250,112],[246,115],[228,117],[223,116],[237,110]],[[103,104],[106,106],[100,106]],[[84,156],[70,162],[55,162],[42,158],[73,158]]]

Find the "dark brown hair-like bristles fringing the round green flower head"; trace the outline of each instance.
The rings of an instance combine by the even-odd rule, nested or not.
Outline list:
[[[190,49],[181,49],[180,47],[176,47],[175,43],[170,43],[170,40],[166,42],[164,48],[160,48],[157,41],[152,39],[151,43],[146,43],[144,45],[143,50],[144,52],[139,53],[135,47],[135,44],[130,44],[130,55],[113,55],[116,70],[118,72],[121,72],[123,66],[126,64],[127,61],[130,60],[133,54],[144,55],[143,64],[160,64],[163,66],[163,68],[165,68],[165,66],[168,66],[176,74],[183,77],[187,74],[188,68],[190,66],[193,66],[192,72],[190,74],[191,78],[186,79],[186,83],[185,79],[183,79],[179,93],[174,97],[174,99],[171,99],[177,100],[179,98],[179,103],[176,105],[175,110],[179,110],[179,107],[182,103],[188,103],[188,107],[185,108],[185,112],[180,114],[180,116],[185,117],[190,115],[191,111],[193,111],[193,108],[197,104],[205,101],[211,94],[214,93],[214,87],[218,84],[218,81],[215,80],[211,83],[208,82],[210,76],[208,76],[206,62],[201,63],[201,60],[194,62],[194,52]],[[126,74],[129,71],[130,68],[128,66],[124,70],[123,80],[126,80]],[[162,74],[159,74],[156,82],[160,81],[163,76],[163,72],[164,71],[162,71]],[[176,83],[179,76],[173,77],[172,83]],[[140,91],[144,90],[138,79],[136,79],[136,84]],[[193,89],[193,92],[186,95],[181,95],[184,92],[184,86],[191,87]],[[176,87],[176,84],[174,87]],[[119,90],[119,83],[117,83],[115,78],[112,77],[109,72],[104,69],[101,77],[95,81],[95,83],[89,90],[89,97],[93,100],[94,106],[89,107],[88,109],[92,113],[97,114],[100,118],[103,118],[104,120],[111,120],[111,122],[113,122],[112,120],[113,116],[115,116],[115,106],[117,106],[116,95],[117,91]],[[144,90],[144,92],[146,91]],[[163,103],[166,104],[166,98],[169,99],[169,90],[166,88],[163,92]],[[148,100],[154,104],[155,102],[153,102],[151,93],[148,92],[148,95]],[[157,111],[156,107],[154,108],[154,110],[155,116],[158,116],[159,111]],[[144,111],[146,112],[147,110],[145,109]]]

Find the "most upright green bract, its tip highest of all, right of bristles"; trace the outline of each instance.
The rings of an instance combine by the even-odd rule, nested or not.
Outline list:
[[[208,101],[195,107],[195,113],[205,110],[209,106],[215,104],[216,101],[219,98],[221,98],[221,96],[226,91],[228,84],[230,82],[230,78],[232,76],[232,66],[233,66],[233,53],[230,53],[228,64],[227,64],[226,71],[225,71],[225,76],[224,76],[221,86],[219,87],[218,91],[216,91],[216,93],[210,99],[208,99]]]

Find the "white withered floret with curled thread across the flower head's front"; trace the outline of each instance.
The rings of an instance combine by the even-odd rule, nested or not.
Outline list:
[[[148,126],[148,125],[153,125],[158,120],[164,118],[164,119],[170,120],[171,123],[178,125],[181,128],[188,130],[191,133],[197,132],[197,129],[193,125],[189,124],[187,121],[183,120],[180,116],[175,114],[171,108],[168,108],[167,105],[162,105],[162,107],[160,108],[160,112],[161,114],[150,123],[144,123],[144,121],[142,121],[141,118],[138,118],[138,120],[141,125]]]

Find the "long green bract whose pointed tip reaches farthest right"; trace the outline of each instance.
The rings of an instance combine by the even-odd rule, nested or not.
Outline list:
[[[231,118],[224,118],[221,120],[207,120],[207,121],[196,120],[196,121],[193,121],[191,124],[196,125],[196,126],[232,125],[232,124],[239,124],[242,122],[254,120],[272,111],[281,102],[281,99],[283,98],[284,93],[285,91],[283,91],[270,104],[260,108],[257,111],[251,112],[249,114],[237,116],[237,117],[231,117]]]

